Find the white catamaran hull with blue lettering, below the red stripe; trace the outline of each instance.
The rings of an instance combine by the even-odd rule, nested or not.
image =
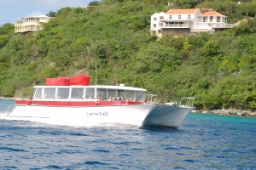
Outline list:
[[[137,127],[178,127],[193,109],[173,105],[17,105],[6,118],[71,126],[128,124]]]

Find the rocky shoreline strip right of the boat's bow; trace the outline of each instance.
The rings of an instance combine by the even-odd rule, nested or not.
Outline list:
[[[192,112],[201,113],[201,114],[212,114],[212,115],[224,115],[224,116],[247,116],[247,117],[256,117],[256,112],[247,111],[247,110],[236,110],[236,109],[227,109],[227,110],[195,110]]]

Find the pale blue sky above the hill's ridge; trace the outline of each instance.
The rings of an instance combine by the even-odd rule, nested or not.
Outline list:
[[[93,0],[0,0],[0,26],[15,24],[22,17],[46,15],[65,7],[87,7]]]

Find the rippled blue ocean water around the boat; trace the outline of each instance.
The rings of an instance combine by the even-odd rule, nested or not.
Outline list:
[[[256,118],[196,113],[176,130],[0,119],[0,169],[256,169],[255,135]]]

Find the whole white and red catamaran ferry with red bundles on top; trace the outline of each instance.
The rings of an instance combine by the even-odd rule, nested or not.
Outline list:
[[[90,85],[90,77],[84,75],[77,76],[80,82],[74,80],[46,79],[45,86],[34,86],[32,99],[16,99],[14,109],[5,116],[61,125],[177,128],[195,109],[191,97],[181,99],[179,105],[163,104],[144,88]]]

